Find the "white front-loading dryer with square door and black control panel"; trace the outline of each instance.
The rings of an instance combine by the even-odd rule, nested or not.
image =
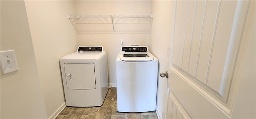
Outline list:
[[[103,47],[82,46],[60,59],[66,105],[101,106],[108,92],[108,61]]]

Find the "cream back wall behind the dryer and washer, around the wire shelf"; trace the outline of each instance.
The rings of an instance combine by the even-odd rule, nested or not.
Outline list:
[[[75,1],[76,14],[116,15],[116,14],[150,14],[149,0],[136,1]],[[154,22],[154,20],[153,20]],[[120,52],[120,40],[124,46],[138,43],[140,46],[150,45],[150,34],[78,34],[78,46],[103,46],[108,53],[108,76],[110,86],[116,86],[116,58]]]

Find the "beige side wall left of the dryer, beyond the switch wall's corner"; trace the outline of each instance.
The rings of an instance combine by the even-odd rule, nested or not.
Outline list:
[[[25,1],[47,116],[64,103],[60,58],[76,51],[73,1]]]

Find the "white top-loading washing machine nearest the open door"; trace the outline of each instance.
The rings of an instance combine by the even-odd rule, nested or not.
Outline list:
[[[122,47],[116,59],[117,110],[156,110],[158,59],[147,47]]]

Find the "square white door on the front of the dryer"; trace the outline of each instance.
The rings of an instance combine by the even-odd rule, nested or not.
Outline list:
[[[65,63],[64,67],[68,89],[96,88],[93,63]]]

